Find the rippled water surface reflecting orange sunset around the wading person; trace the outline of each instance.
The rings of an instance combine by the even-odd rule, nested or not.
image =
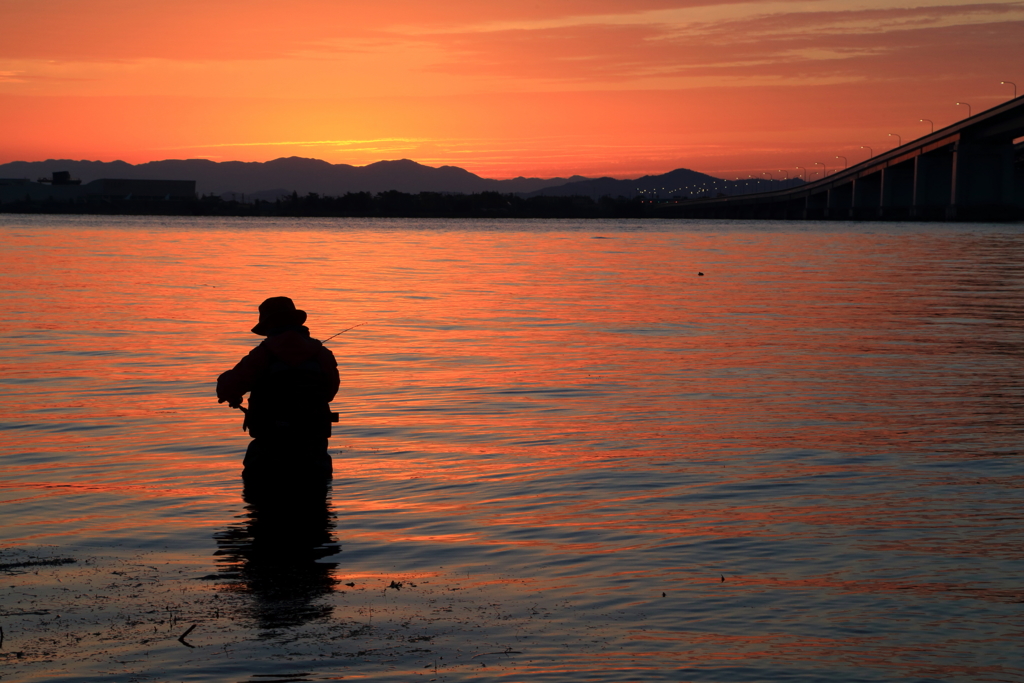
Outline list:
[[[1020,225],[7,215],[0,250],[4,680],[1024,680]],[[367,325],[331,490],[274,508],[213,386],[276,295]]]

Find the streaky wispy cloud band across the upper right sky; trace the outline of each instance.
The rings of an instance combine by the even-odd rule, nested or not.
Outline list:
[[[822,85],[876,77],[878,57],[908,49],[948,57],[950,44],[1006,42],[1015,24],[1024,30],[1022,2],[718,4],[465,27],[433,36],[453,58],[427,69],[573,87]]]

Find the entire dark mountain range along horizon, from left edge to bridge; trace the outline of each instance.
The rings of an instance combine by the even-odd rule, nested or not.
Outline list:
[[[347,193],[383,193],[397,190],[418,194],[498,191],[524,196],[588,196],[593,199],[611,197],[637,197],[657,194],[660,197],[695,196],[717,193],[745,194],[788,186],[781,181],[752,182],[724,181],[721,178],[677,169],[663,175],[649,175],[636,180],[615,178],[587,178],[574,175],[568,178],[511,178],[495,180],[482,178],[457,166],[432,167],[402,159],[381,161],[368,166],[331,164],[318,159],[288,157],[268,162],[214,162],[206,159],[187,159],[129,164],[123,161],[74,161],[67,159],[43,162],[10,162],[0,164],[0,178],[50,177],[55,171],[69,171],[72,177],[83,182],[98,178],[195,180],[196,190],[202,196],[218,195],[234,199],[263,199],[298,193],[316,193],[325,196],[342,196]],[[794,181],[798,182],[798,181]],[[743,191],[740,191],[740,190]]]

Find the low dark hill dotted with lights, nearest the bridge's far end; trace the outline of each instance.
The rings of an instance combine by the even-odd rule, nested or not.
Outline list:
[[[618,180],[616,178],[590,178],[567,182],[561,185],[544,187],[525,197],[717,197],[749,195],[751,193],[783,189],[803,183],[803,180],[769,180],[768,178],[748,178],[745,180],[725,180],[707,173],[698,173],[686,168],[678,168],[662,175],[645,175],[635,180]]]

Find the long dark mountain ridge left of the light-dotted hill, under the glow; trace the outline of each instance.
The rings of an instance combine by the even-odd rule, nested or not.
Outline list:
[[[316,193],[529,193],[551,185],[584,180],[570,178],[481,178],[456,166],[434,168],[408,159],[381,161],[369,166],[330,164],[318,159],[288,157],[268,162],[213,162],[206,159],[155,161],[128,164],[67,159],[44,162],[11,162],[0,165],[0,178],[49,177],[54,171],[70,171],[83,182],[98,178],[196,180],[200,195],[233,194],[272,200],[282,195]]]

